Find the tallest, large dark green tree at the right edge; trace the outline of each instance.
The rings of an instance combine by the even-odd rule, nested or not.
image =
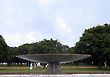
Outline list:
[[[75,53],[91,54],[91,60],[96,64],[99,63],[101,68],[102,63],[110,56],[110,24],[85,30],[76,43]]]

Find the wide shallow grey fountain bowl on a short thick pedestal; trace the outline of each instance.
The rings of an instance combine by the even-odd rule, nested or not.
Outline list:
[[[72,62],[90,57],[85,54],[27,54],[18,55],[18,58],[32,62],[48,63],[48,74],[60,74],[60,63]]]

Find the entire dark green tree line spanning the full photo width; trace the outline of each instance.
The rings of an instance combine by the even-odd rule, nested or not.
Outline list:
[[[23,54],[90,54],[91,58],[84,60],[89,64],[98,65],[101,68],[106,62],[110,65],[110,24],[97,25],[85,29],[80,40],[74,47],[61,44],[52,38],[36,43],[26,43],[19,47],[10,47],[0,35],[0,62],[22,63],[25,60],[16,58],[16,55]]]

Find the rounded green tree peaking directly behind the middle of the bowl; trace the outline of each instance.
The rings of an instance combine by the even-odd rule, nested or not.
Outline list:
[[[47,54],[47,53],[62,53],[62,44],[57,40],[46,40],[39,41],[38,43],[34,44],[32,49],[32,53],[38,54]]]

